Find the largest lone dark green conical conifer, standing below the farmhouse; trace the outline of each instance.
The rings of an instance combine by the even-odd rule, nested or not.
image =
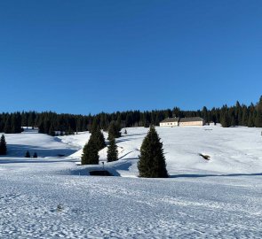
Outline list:
[[[165,158],[163,155],[163,143],[151,126],[145,137],[139,156],[139,176],[146,178],[167,178]]]

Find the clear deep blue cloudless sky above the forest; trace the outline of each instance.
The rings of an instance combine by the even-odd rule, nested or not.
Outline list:
[[[0,1],[0,92],[0,112],[256,103],[262,1]]]

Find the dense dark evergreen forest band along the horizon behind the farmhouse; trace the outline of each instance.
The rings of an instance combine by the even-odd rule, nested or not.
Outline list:
[[[74,132],[91,130],[92,124],[107,130],[110,122],[118,127],[149,127],[170,117],[202,117],[206,122],[221,123],[223,127],[247,126],[262,127],[262,96],[258,104],[223,105],[221,108],[208,110],[205,106],[198,111],[182,111],[178,107],[159,111],[101,112],[88,116],[58,114],[55,112],[13,112],[0,114],[0,132],[6,134],[20,133],[21,127],[38,127],[40,133],[48,135],[74,134]]]

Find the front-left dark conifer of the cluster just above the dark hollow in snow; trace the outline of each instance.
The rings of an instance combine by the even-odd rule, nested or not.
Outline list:
[[[98,165],[99,150],[96,143],[90,138],[89,142],[83,147],[83,155],[81,158],[82,165]]]

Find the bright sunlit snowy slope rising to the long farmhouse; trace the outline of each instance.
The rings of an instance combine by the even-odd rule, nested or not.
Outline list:
[[[248,127],[156,127],[171,176],[180,173],[260,173],[262,168],[261,129]],[[127,135],[116,140],[120,161],[110,163],[123,176],[138,175],[139,148],[148,128],[128,128]],[[60,137],[63,143],[84,145],[89,133]],[[107,137],[107,135],[106,135]],[[69,139],[68,139],[69,138]],[[210,160],[199,154],[209,155]],[[80,158],[82,150],[72,157]],[[99,152],[100,160],[107,159],[107,149]]]

